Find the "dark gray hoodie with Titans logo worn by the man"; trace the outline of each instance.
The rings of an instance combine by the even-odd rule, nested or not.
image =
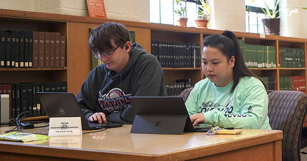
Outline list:
[[[130,96],[167,96],[159,61],[138,43],[131,46],[129,62],[117,75],[104,64],[95,67],[76,99],[86,120],[103,112],[107,122],[131,124],[135,112]]]

